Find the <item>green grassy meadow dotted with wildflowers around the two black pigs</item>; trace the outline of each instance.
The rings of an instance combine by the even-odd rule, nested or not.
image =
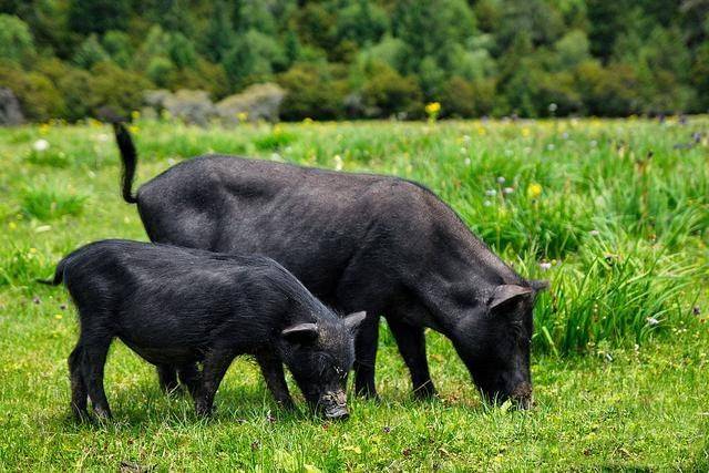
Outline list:
[[[703,116],[688,125],[140,122],[140,182],[207,152],[413,178],[552,290],[535,311],[530,412],[481,404],[433,332],[440,399],[413,401],[382,326],[382,401],[351,399],[347,423],[278,411],[245,359],[217,394],[216,418],[197,420],[116,342],[106,367],[115,420],[102,425],[69,418],[75,317],[65,291],[33,281],[82,244],[145,239],[119,196],[110,128],[0,128],[0,469],[707,471],[708,127]],[[692,133],[705,133],[700,143],[675,147]],[[39,138],[47,150],[33,148]]]

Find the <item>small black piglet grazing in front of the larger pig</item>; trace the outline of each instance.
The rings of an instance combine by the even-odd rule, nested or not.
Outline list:
[[[96,415],[111,417],[103,369],[116,337],[153,364],[177,367],[199,415],[212,412],[234,358],[249,353],[279,403],[292,407],[285,363],[314,408],[348,417],[352,331],[364,313],[339,318],[270,258],[103,240],[71,253],[43,282],[62,280],[81,326],[69,357],[79,418],[88,413],[86,395]]]

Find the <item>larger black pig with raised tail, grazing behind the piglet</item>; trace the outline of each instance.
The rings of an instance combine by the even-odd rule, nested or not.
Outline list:
[[[389,323],[417,395],[434,393],[423,330],[450,338],[486,398],[532,395],[535,295],[425,187],[397,177],[337,173],[234,156],[179,163],[131,193],[136,152],[115,124],[123,197],[137,203],[153,241],[268,255],[316,296],[363,309],[356,390],[376,395],[379,316]]]

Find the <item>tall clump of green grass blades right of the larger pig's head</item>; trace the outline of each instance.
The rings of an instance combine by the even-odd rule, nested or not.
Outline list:
[[[535,313],[535,345],[557,354],[599,343],[643,343],[655,332],[690,319],[699,263],[640,244],[612,250],[603,243],[562,265]]]

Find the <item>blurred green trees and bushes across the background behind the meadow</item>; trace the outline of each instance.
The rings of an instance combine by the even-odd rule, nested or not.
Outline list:
[[[430,102],[442,117],[699,113],[708,17],[703,0],[2,0],[0,86],[30,120],[265,82],[286,90],[285,120],[420,117]]]

